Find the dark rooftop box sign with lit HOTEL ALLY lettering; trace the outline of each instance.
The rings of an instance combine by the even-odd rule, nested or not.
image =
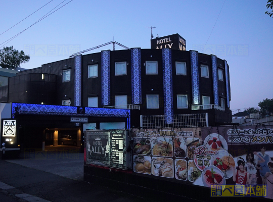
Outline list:
[[[179,51],[186,51],[186,40],[179,34],[172,34],[160,38],[151,39],[151,48],[171,48]]]

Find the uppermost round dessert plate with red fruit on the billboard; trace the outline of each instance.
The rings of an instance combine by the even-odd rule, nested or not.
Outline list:
[[[223,138],[223,136],[217,133],[209,134],[204,140],[204,145],[209,150],[213,150],[213,151],[228,150],[228,144],[226,143],[225,139]]]

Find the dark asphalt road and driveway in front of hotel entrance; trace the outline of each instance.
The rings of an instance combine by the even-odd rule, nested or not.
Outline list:
[[[83,181],[76,147],[49,147],[23,159],[0,160],[0,201],[140,201],[139,196]],[[3,197],[2,197],[3,196]],[[151,201],[151,200],[150,200]]]

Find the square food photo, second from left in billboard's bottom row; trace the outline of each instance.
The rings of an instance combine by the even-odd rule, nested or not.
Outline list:
[[[152,172],[155,176],[173,178],[173,160],[169,158],[152,158]]]

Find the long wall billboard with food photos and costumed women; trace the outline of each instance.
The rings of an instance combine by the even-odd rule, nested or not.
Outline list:
[[[141,129],[132,137],[136,175],[208,188],[265,185],[273,198],[273,126]]]

